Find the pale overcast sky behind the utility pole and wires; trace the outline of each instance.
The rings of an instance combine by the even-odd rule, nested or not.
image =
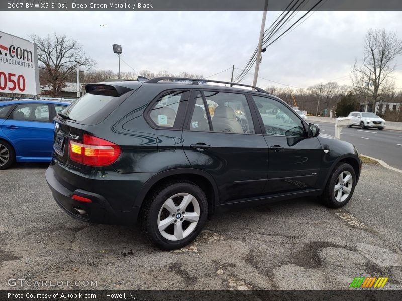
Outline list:
[[[268,12],[265,28],[280,12]],[[301,14],[300,14],[301,16]],[[117,71],[112,44],[121,44],[121,58],[137,71],[186,71],[205,77],[243,68],[257,46],[262,12],[9,12],[2,31],[65,34],[78,40],[97,61],[97,69]],[[394,31],[402,39],[401,12],[315,12],[263,53],[258,86],[283,84],[306,88],[320,82],[351,84],[348,75],[363,56],[369,28]],[[394,72],[402,88],[402,57]],[[122,71],[133,71],[121,62]],[[235,75],[239,72],[235,69]],[[254,67],[250,70],[254,73]],[[229,81],[231,70],[210,79]],[[268,79],[268,80],[265,80]],[[251,84],[252,76],[243,83]]]

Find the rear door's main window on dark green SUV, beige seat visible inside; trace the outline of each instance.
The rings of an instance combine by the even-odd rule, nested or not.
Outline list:
[[[254,134],[254,125],[244,94],[204,91],[212,130],[215,132]]]

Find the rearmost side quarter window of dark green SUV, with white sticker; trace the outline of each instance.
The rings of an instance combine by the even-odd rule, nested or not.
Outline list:
[[[179,110],[185,108],[189,91],[169,91],[158,98],[148,115],[157,127],[178,128],[177,116]]]

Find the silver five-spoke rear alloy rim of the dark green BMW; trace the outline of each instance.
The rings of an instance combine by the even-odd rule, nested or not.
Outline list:
[[[198,200],[189,193],[177,193],[168,198],[158,214],[158,230],[166,239],[181,240],[198,224],[201,209]]]

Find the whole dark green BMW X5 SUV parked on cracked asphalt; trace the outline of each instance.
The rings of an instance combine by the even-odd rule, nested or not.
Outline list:
[[[163,249],[190,243],[223,208],[303,196],[345,205],[361,171],[356,148],[254,89],[178,78],[87,85],[55,118],[54,199],[82,221],[139,221]]]

